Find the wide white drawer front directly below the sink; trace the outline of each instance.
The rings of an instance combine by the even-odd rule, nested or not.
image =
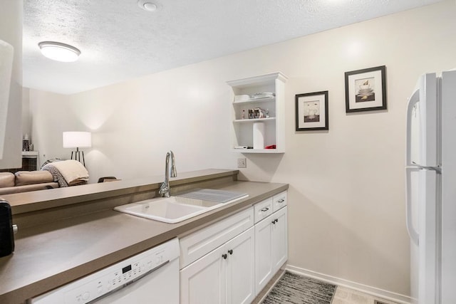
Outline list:
[[[254,225],[254,210],[249,208],[222,219],[180,239],[180,268],[226,243]]]

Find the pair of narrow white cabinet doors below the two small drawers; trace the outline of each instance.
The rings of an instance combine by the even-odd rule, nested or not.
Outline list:
[[[259,293],[288,258],[287,207],[255,224],[255,290]]]

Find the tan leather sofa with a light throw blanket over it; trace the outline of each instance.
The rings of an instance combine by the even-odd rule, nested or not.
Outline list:
[[[88,183],[86,167],[74,159],[51,162],[38,171],[0,172],[0,195]]]

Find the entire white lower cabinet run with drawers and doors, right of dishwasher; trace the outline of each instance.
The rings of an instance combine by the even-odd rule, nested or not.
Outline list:
[[[288,259],[286,195],[180,238],[180,303],[252,303]]]

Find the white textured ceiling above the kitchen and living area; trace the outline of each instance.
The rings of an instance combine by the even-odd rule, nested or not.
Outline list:
[[[138,0],[24,1],[24,86],[78,93],[440,0],[150,1],[157,11]],[[81,56],[51,61],[40,41]]]

